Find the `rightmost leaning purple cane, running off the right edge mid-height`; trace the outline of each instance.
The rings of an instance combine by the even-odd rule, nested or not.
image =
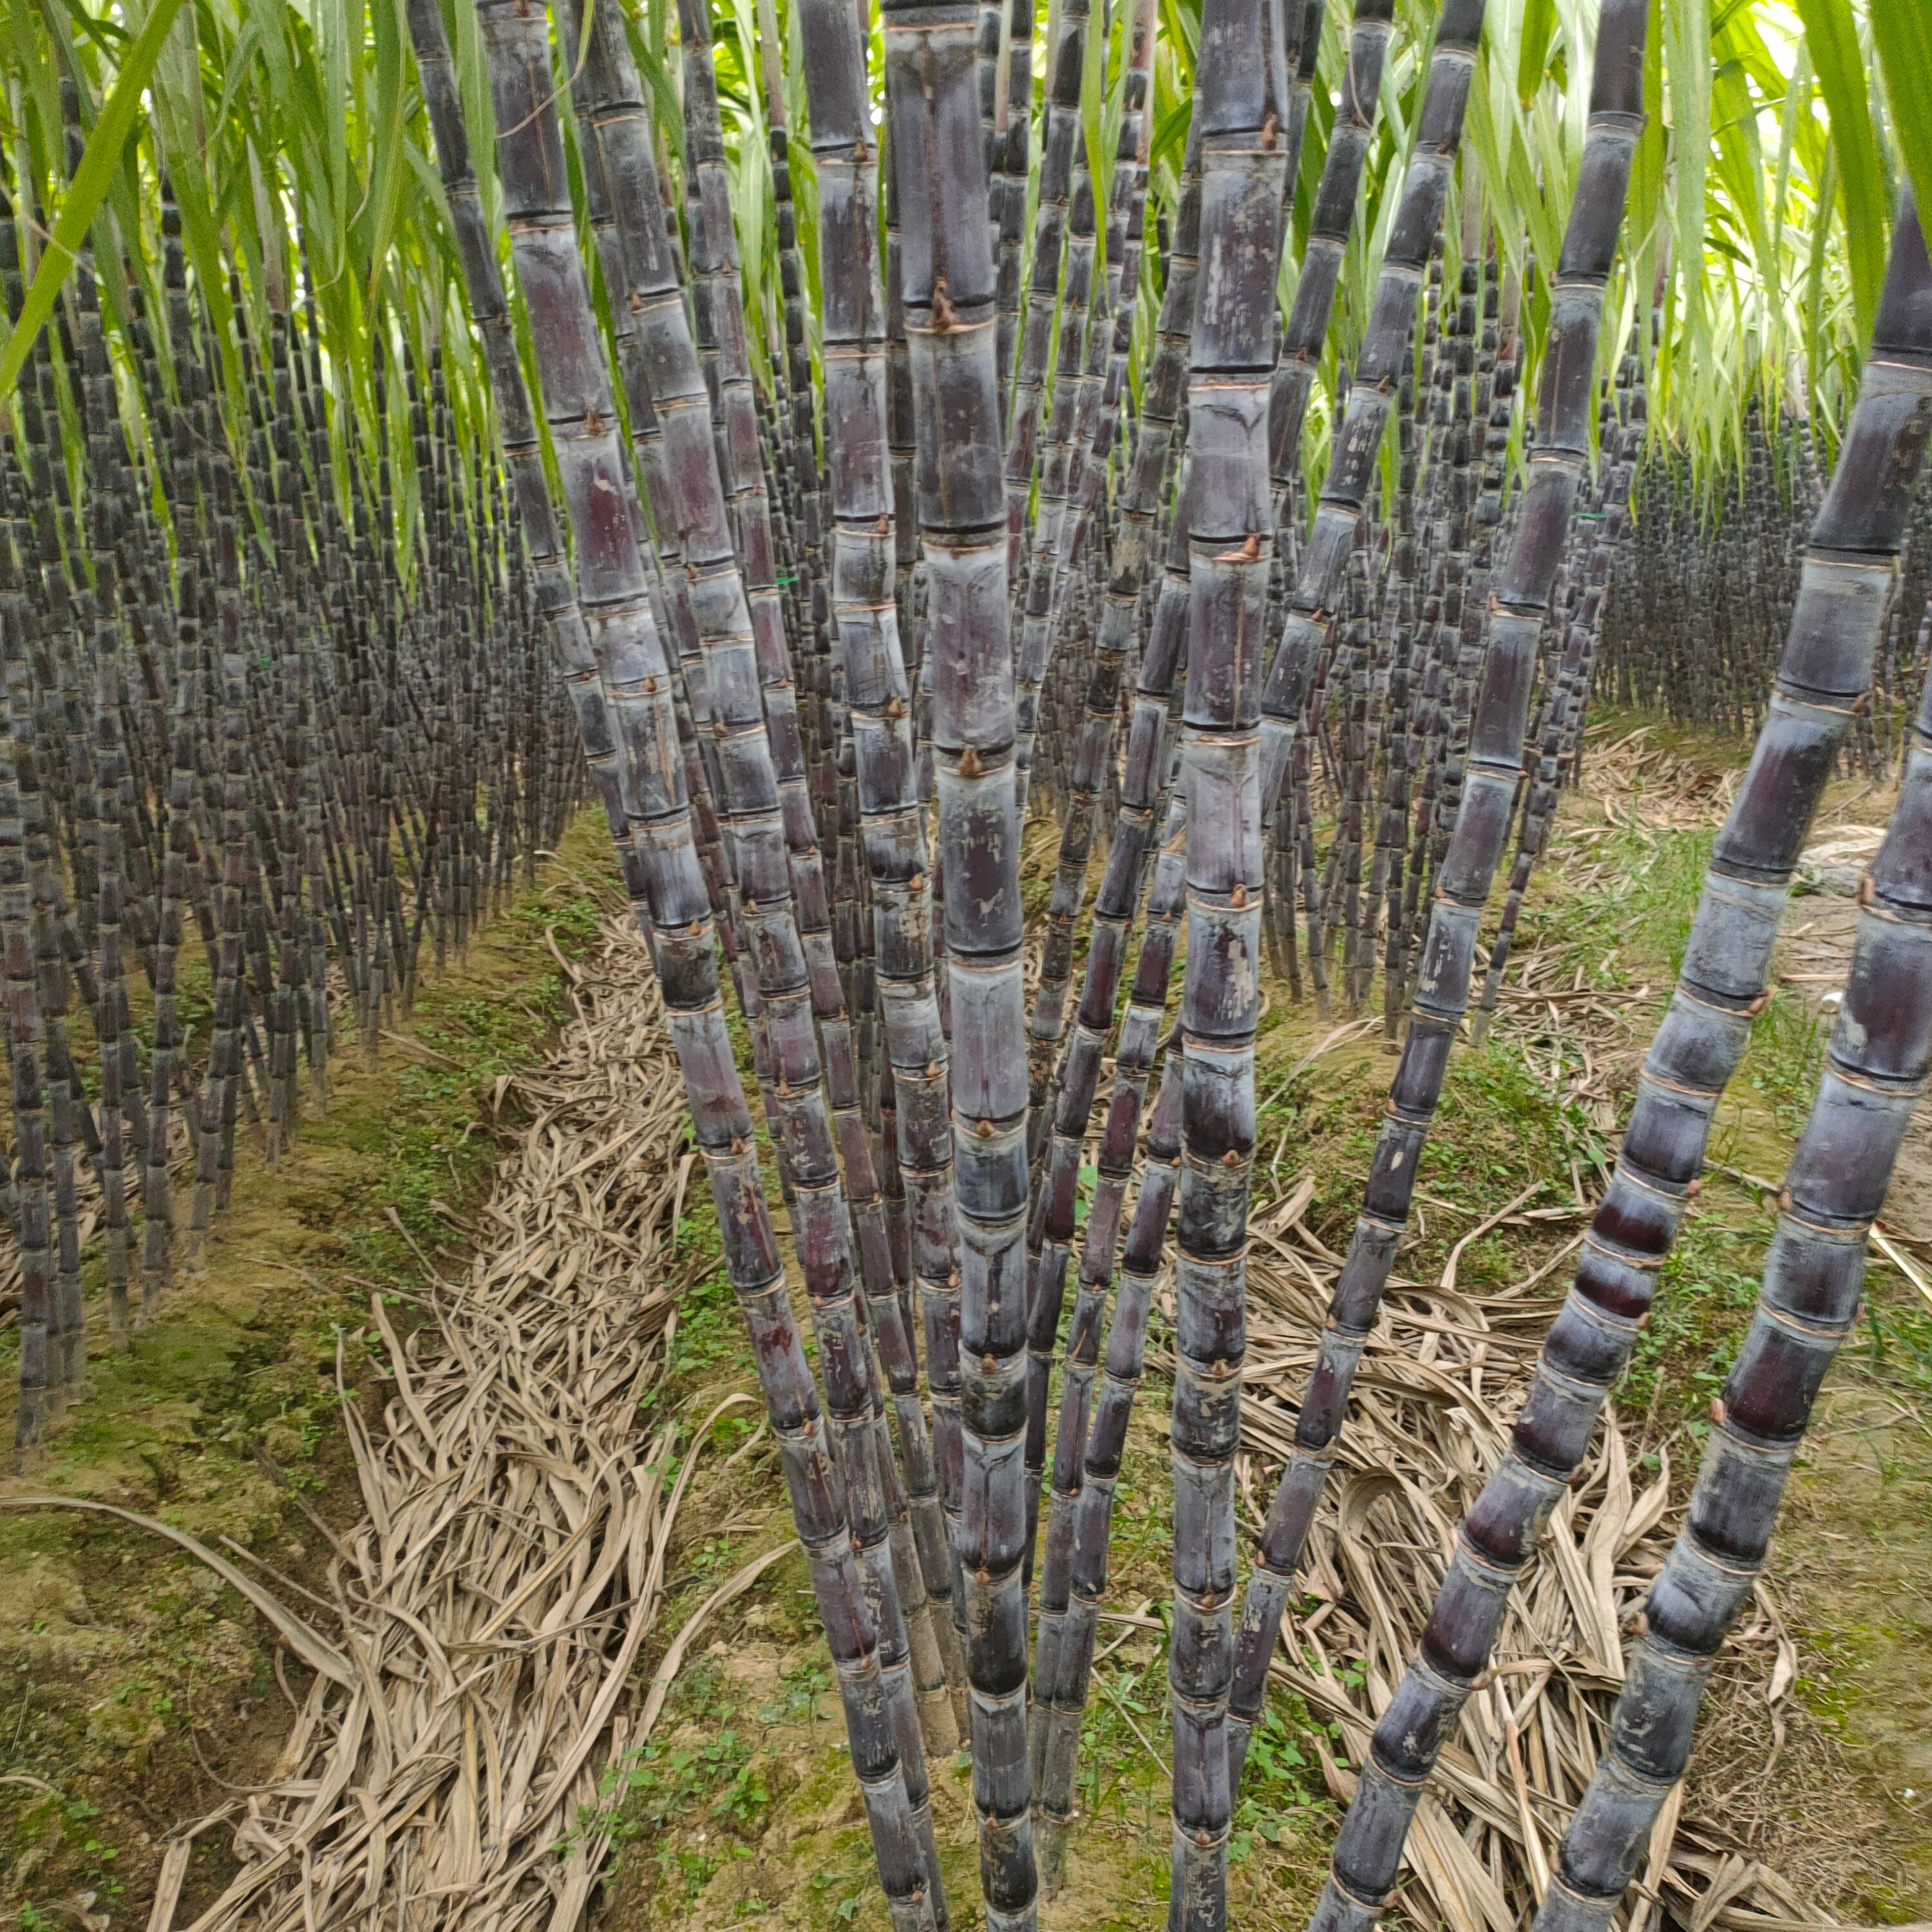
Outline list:
[[[1911,197],[1893,263],[1924,242]],[[1893,278],[1888,296],[1905,290]],[[1880,315],[1864,381],[1918,336],[1920,383],[1932,334]],[[1888,327],[1889,325],[1889,327]],[[1843,466],[1853,450],[1839,454]],[[1897,498],[1903,502],[1901,498]],[[1859,1316],[1864,1246],[1932,1061],[1932,692],[1918,707],[1899,802],[1861,891],[1859,933],[1810,1119],[1777,1194],[1777,1233],[1758,1306],[1723,1393],[1712,1405],[1683,1528],[1650,1586],[1609,1739],[1557,1851],[1540,1932],[1605,1932],[1650,1845],[1663,1801],[1685,1776],[1698,1704],[1725,1633],[1750,1602],[1812,1401]],[[1642,1101],[1638,1101],[1642,1105]],[[1634,1124],[1634,1122],[1633,1122]],[[1629,1142],[1625,1144],[1629,1146]],[[1551,1368],[1557,1335],[1546,1345]]]

